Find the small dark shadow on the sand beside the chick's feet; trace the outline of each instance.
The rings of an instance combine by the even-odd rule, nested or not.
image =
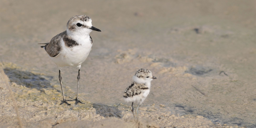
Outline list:
[[[117,117],[122,118],[122,112],[114,106],[103,105],[99,103],[93,103],[93,108],[96,110],[96,114],[103,117]]]

